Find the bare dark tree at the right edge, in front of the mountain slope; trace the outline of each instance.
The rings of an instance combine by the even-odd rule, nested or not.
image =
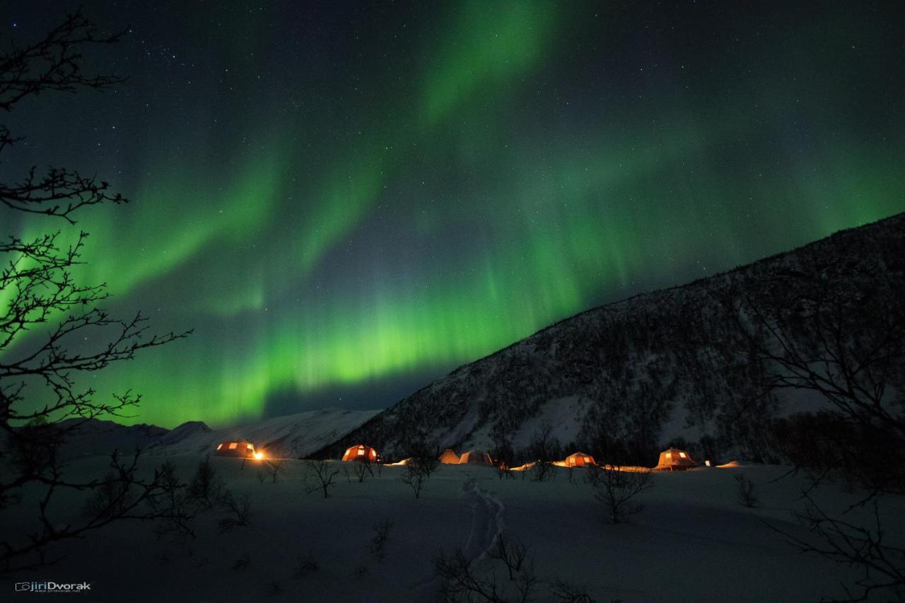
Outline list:
[[[905,471],[896,461],[905,458],[884,458],[877,471],[881,459],[859,440],[873,434],[892,450],[905,447],[902,267],[890,258],[885,273],[862,273],[815,250],[805,257],[794,270],[738,277],[720,296],[742,335],[737,353],[761,369],[758,396],[794,389],[824,401],[822,425],[853,459],[835,473],[868,490],[900,491]]]

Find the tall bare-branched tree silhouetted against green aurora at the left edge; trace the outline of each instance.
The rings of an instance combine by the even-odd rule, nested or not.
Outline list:
[[[0,53],[0,110],[12,111],[20,101],[43,92],[104,90],[123,81],[118,75],[83,72],[81,53],[86,47],[117,43],[124,33],[100,34],[77,12],[41,39],[5,46]],[[0,153],[19,140],[0,126]],[[74,225],[75,213],[86,206],[126,202],[110,192],[107,182],[68,168],[50,168],[43,175],[32,168],[17,181],[0,182],[0,209],[43,216],[48,223],[62,220]],[[8,224],[2,216],[0,222]],[[104,285],[77,282],[71,273],[82,263],[86,236],[81,232],[73,244],[64,245],[61,231],[49,225],[33,239],[11,234],[0,243],[0,465],[5,468],[0,513],[19,503],[25,488],[42,492],[35,524],[27,529],[31,531],[17,538],[5,530],[0,537],[0,571],[52,561],[47,557],[49,545],[81,538],[110,522],[181,521],[182,511],[167,501],[175,501],[174,491],[184,484],[177,483],[166,466],[140,477],[138,453],[127,461],[114,454],[110,473],[100,479],[81,481],[64,475],[61,446],[73,430],[97,416],[125,416],[141,399],[131,391],[96,397],[93,389],[76,384],[77,376],[187,335],[149,336],[140,314],[121,320],[101,310],[99,303],[109,295]],[[39,326],[49,330],[39,331]],[[89,333],[100,337],[89,338]],[[90,347],[85,340],[103,343]],[[70,349],[75,341],[79,349]],[[61,425],[67,417],[82,421]],[[63,491],[85,494],[81,520],[62,521],[57,515],[60,505],[52,501]],[[0,524],[12,525],[3,516]]]

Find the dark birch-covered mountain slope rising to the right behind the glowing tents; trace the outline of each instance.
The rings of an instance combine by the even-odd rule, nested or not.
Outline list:
[[[703,439],[710,443],[710,448],[715,445],[711,440],[716,440],[717,447],[727,453],[731,450],[748,457],[771,455],[776,451],[769,450],[769,445],[755,443],[756,436],[753,434],[733,435],[728,433],[733,426],[713,424],[714,421],[726,423],[735,412],[729,408],[732,405],[715,402],[714,397],[738,398],[740,395],[733,393],[733,389],[743,389],[744,396],[748,396],[753,387],[752,379],[744,378],[745,371],[752,368],[738,365],[736,360],[731,359],[731,349],[714,352],[721,355],[722,359],[699,358],[702,352],[706,356],[713,351],[708,348],[735,345],[732,340],[738,336],[731,332],[729,324],[723,324],[723,328],[719,328],[719,321],[727,322],[729,317],[720,314],[719,306],[714,300],[736,286],[736,281],[745,282],[745,286],[763,285],[768,290],[767,285],[772,286],[769,283],[776,280],[799,278],[807,265],[816,265],[818,255],[822,256],[820,261],[827,264],[825,268],[843,281],[861,283],[869,289],[872,286],[871,278],[881,278],[869,275],[882,273],[894,276],[898,283],[902,277],[901,265],[889,258],[905,255],[905,250],[902,249],[902,233],[905,231],[903,225],[905,214],[892,215],[875,223],[838,231],[795,249],[760,258],[753,263],[739,265],[729,271],[681,285],[638,293],[624,300],[578,312],[481,359],[453,369],[443,378],[435,379],[424,388],[416,390],[316,454],[334,456],[344,446],[359,441],[378,446],[390,457],[402,454],[404,442],[413,440],[425,440],[440,448],[472,445],[489,447],[489,432],[497,424],[516,444],[525,445],[530,436],[525,433],[526,422],[538,416],[538,411],[549,406],[551,400],[570,399],[573,406],[581,407],[576,412],[583,413],[584,416],[576,419],[576,425],[580,424],[578,431],[585,433],[584,436],[575,433],[571,436],[572,439],[565,439],[568,435],[557,432],[564,444],[587,445],[591,427],[588,424],[599,422],[602,416],[616,415],[619,416],[617,423],[621,422],[614,427],[616,432],[627,432],[631,428],[651,431],[643,437],[645,442],[638,446],[639,450],[642,447],[655,448],[669,441],[672,436],[673,439],[691,438],[699,442]],[[885,249],[884,246],[891,249]],[[887,270],[891,265],[896,269]],[[645,327],[643,321],[631,316],[632,313],[649,319],[650,329]],[[718,323],[708,324],[709,319]],[[704,332],[710,331],[712,340],[701,339],[701,333],[682,328],[682,321],[688,321]],[[602,336],[596,341],[593,337],[589,340],[586,333],[579,332],[581,327],[599,330]],[[674,349],[658,347],[652,341],[635,345],[635,340],[650,338],[650,333],[645,333],[645,329],[662,333],[674,345]],[[694,345],[690,346],[687,341],[681,340],[679,336],[683,333],[691,340],[697,338]],[[611,344],[610,340],[614,338],[617,341]],[[621,343],[618,341],[620,338]],[[645,349],[649,353],[641,353]],[[557,354],[569,351],[575,352],[572,359],[562,362],[557,360]],[[610,352],[613,352],[611,355],[614,358],[601,358],[601,355],[605,356]],[[626,353],[628,356],[625,356]],[[513,359],[517,356],[520,359]],[[669,359],[664,360],[666,357]],[[693,378],[678,377],[682,372],[682,362],[690,362],[692,368],[698,370]],[[500,364],[505,366],[500,367]],[[619,366],[614,369],[616,365]],[[532,370],[526,370],[526,367]],[[720,369],[731,369],[738,375],[723,379],[722,383],[719,378],[707,375]],[[663,370],[665,375],[658,375]],[[601,371],[603,375],[600,374]],[[607,371],[614,375],[607,375]],[[635,378],[635,372],[643,375]],[[544,373],[549,383],[545,383],[544,378],[538,378],[538,373]],[[583,375],[585,385],[580,384]],[[662,378],[672,380],[662,383]],[[462,383],[470,379],[470,383]],[[497,387],[496,381],[499,379],[509,381],[509,392],[505,387]],[[629,391],[629,386],[635,390],[634,393]],[[695,388],[700,389],[697,395],[693,391]],[[657,398],[653,404],[647,404],[645,410],[649,411],[650,416],[643,420],[633,416],[633,409],[630,408],[643,397],[641,390],[647,392],[647,397]],[[621,405],[615,399],[619,397],[618,392],[622,392],[627,400]],[[523,399],[520,402],[514,399],[518,397]],[[691,400],[691,397],[704,398],[705,401]],[[593,403],[576,405],[576,398],[588,398]],[[813,407],[814,403],[814,399],[795,400],[794,396],[771,395],[758,412],[773,417],[780,407],[787,409],[791,404],[793,409],[800,410]],[[449,406],[455,404],[468,407],[467,412],[451,410]],[[545,410],[544,413],[546,412]],[[588,415],[591,416],[590,419]],[[666,427],[669,429],[664,429]],[[746,428],[751,431],[763,428],[763,425],[748,425]],[[670,433],[666,433],[667,431]]]

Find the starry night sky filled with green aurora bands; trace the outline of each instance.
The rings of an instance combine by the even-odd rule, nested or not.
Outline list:
[[[195,329],[87,382],[143,393],[130,422],[387,407],[576,312],[905,210],[900,2],[224,4],[0,8],[3,44],[78,5],[130,25],[86,56],[129,81],[23,102],[0,166],[133,200],[0,213],[4,236],[90,232],[77,274],[110,311]]]

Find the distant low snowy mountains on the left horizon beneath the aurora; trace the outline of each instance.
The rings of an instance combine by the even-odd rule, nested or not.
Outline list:
[[[67,419],[64,452],[69,456],[108,455],[114,449],[130,454],[136,448],[149,455],[205,454],[225,440],[242,439],[268,455],[299,458],[334,442],[376,415],[376,410],[324,408],[289,416],[276,416],[245,426],[211,429],[190,421],[173,429],[149,425],[122,426],[112,421]]]

